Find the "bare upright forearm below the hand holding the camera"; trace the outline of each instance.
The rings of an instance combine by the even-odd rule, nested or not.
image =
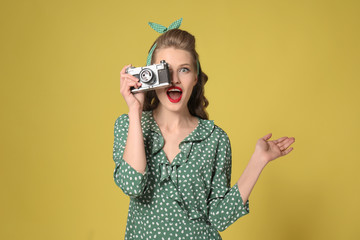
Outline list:
[[[136,171],[145,173],[146,155],[141,128],[141,115],[141,110],[129,111],[129,131],[123,158]]]

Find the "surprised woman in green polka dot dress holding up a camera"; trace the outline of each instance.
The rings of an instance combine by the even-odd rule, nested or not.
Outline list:
[[[163,29],[149,54],[151,64],[169,64],[170,87],[132,94],[141,83],[125,73],[130,65],[121,71],[129,112],[115,122],[113,158],[115,182],[130,196],[125,239],[221,239],[218,231],[249,213],[248,198],[263,168],[291,152],[295,141],[260,138],[231,187],[230,141],[208,120],[207,76],[194,36],[179,25]]]

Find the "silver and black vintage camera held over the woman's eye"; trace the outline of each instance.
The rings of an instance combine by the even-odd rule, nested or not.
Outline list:
[[[128,67],[126,73],[138,78],[142,83],[139,88],[132,87],[132,93],[149,91],[171,85],[169,66],[165,60],[162,60],[160,64],[153,64],[146,67]]]

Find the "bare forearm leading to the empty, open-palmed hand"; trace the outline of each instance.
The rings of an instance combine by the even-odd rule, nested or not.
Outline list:
[[[250,193],[257,182],[260,173],[266,166],[266,163],[258,159],[256,156],[252,156],[248,165],[246,166],[243,174],[239,178],[237,185],[240,195],[243,199],[243,204],[249,199]]]

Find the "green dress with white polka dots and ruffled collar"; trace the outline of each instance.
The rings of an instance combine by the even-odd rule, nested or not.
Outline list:
[[[116,119],[113,159],[115,183],[130,196],[125,239],[221,239],[233,222],[249,213],[238,186],[230,187],[231,148],[213,121],[198,126],[179,145],[170,163],[152,112],[141,119],[147,166],[137,172],[122,158],[128,115]]]

